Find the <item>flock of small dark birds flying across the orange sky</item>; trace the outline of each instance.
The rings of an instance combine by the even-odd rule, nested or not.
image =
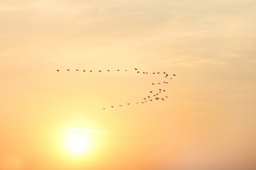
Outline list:
[[[60,70],[59,69],[57,69],[56,71],[58,71],[58,72],[60,72]],[[70,69],[67,69],[67,71],[70,71]],[[79,69],[76,69],[76,71],[79,71]],[[86,70],[83,70],[83,72],[85,72]],[[109,72],[110,70],[106,70],[107,72]],[[117,71],[120,71],[120,70],[117,70]],[[128,71],[128,70],[124,70],[124,71]],[[135,68],[135,71],[136,71],[136,73],[141,73],[140,71],[138,71],[138,69],[137,68]],[[92,70],[90,70],[89,71],[90,73],[92,73]],[[98,72],[100,72],[101,73],[101,70],[99,70]],[[148,72],[142,72],[143,74],[148,74]],[[153,72],[153,74],[161,74],[160,72]],[[163,72],[163,74],[164,74],[164,77],[165,78],[167,78],[167,77],[169,77],[169,74],[168,73],[166,73],[166,72]],[[173,74],[173,76],[176,76],[175,74]],[[172,77],[170,78],[170,79],[173,79]],[[168,82],[166,82],[166,81],[164,81],[163,83],[168,83]],[[155,84],[161,84],[160,82],[159,83],[152,83],[152,85],[155,85]],[[146,103],[146,102],[153,102],[153,100],[164,100],[164,99],[166,99],[168,96],[164,96],[164,97],[159,97],[160,95],[159,95],[159,93],[164,93],[166,90],[164,90],[164,89],[161,89],[161,88],[159,88],[159,90],[157,90],[156,92],[154,92],[153,93],[153,91],[150,91],[149,93],[149,95],[147,95],[147,97],[144,97],[143,98],[143,100],[142,100],[142,102],[136,102],[136,104],[144,104],[144,103]],[[153,96],[152,96],[153,95]],[[149,100],[147,100],[147,99],[149,99]],[[130,105],[130,103],[127,103],[128,105]],[[118,105],[118,107],[121,107],[122,105]],[[111,106],[111,108],[113,108],[114,106]],[[103,109],[106,109],[106,108],[103,108]]]

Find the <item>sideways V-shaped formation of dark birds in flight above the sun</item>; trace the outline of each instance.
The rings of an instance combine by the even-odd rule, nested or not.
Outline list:
[[[60,69],[57,69],[56,71],[58,71],[58,72],[60,72],[61,70]],[[67,70],[65,70],[65,71],[72,71],[72,70],[70,70],[70,69],[67,69]],[[79,71],[79,69],[75,69],[74,71]],[[83,70],[83,72],[85,73],[87,70]],[[110,72],[110,71],[118,71],[118,72],[120,72],[120,71],[128,71],[128,70],[120,70],[120,69],[118,69],[118,70],[106,70],[105,72]],[[159,75],[164,75],[164,77],[165,77],[165,79],[167,78],[167,79],[173,79],[173,77],[170,77],[170,75],[168,74],[168,73],[166,73],[166,72],[163,72],[163,73],[161,73],[161,72],[153,72],[153,73],[148,73],[148,72],[144,72],[144,71],[142,71],[142,72],[140,72],[137,68],[135,68],[133,71],[135,71],[135,73],[142,73],[142,74],[153,74],[153,75],[157,75],[157,74],[159,74]],[[98,72],[98,73],[101,73],[101,72],[104,72],[103,70],[98,70],[98,71],[92,71],[92,70],[88,70],[88,72],[89,73],[92,73],[92,72]],[[176,74],[173,74],[173,76],[176,76]],[[167,84],[168,82],[165,80],[165,81],[163,81],[163,82],[157,82],[157,83],[152,83],[152,85],[157,85],[157,84]],[[127,103],[127,105],[130,105],[130,104],[144,104],[144,103],[146,103],[146,102],[153,102],[153,101],[164,101],[168,96],[166,96],[166,95],[160,95],[159,93],[165,93],[166,92],[166,89],[162,89],[162,88],[158,88],[157,90],[155,90],[155,91],[149,91],[148,93],[148,95],[146,95],[146,97],[144,97],[144,98],[141,98],[141,101],[139,102],[139,101],[137,101],[137,102],[134,102],[134,103]],[[150,94],[151,93],[151,94]],[[161,96],[161,97],[160,97]],[[119,104],[119,105],[117,105],[118,107],[121,107],[121,106],[123,106],[123,104]],[[115,105],[111,105],[111,107],[109,106],[108,108],[114,108],[115,107]],[[106,109],[107,107],[105,107],[105,108],[103,108],[103,109]]]

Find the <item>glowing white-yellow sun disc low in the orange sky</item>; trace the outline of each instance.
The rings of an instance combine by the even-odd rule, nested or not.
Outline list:
[[[90,138],[84,132],[70,132],[65,137],[65,148],[73,155],[88,152],[90,147]]]

